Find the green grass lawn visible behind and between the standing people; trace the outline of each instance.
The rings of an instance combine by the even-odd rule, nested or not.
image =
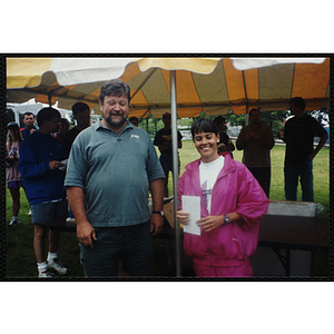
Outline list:
[[[284,164],[285,147],[275,145],[272,150],[272,188],[271,199],[284,200]],[[183,141],[183,148],[179,149],[180,173],[185,170],[185,165],[199,157],[191,140]],[[234,151],[234,158],[242,160],[242,151]],[[169,194],[173,194],[171,176],[169,177]],[[301,199],[301,191],[298,191]],[[12,216],[11,197],[7,189],[6,197],[6,226],[8,226]],[[328,216],[330,212],[330,149],[323,148],[314,160],[314,195],[315,202],[324,206],[322,216]],[[32,248],[33,226],[28,216],[29,205],[24,193],[21,190],[21,209],[19,218],[22,222],[20,226],[6,227],[6,275],[10,279],[36,278],[37,267]],[[156,252],[166,258],[166,249],[161,242],[156,242]],[[84,275],[82,266],[79,259],[79,246],[75,233],[62,233],[58,249],[61,262],[68,267],[67,277],[80,278]],[[167,259],[166,259],[167,263]]]

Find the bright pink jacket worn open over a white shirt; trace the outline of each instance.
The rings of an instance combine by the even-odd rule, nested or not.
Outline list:
[[[225,157],[212,196],[212,216],[237,212],[243,222],[220,225],[210,230],[202,230],[200,236],[185,233],[184,247],[194,263],[210,266],[238,266],[249,262],[257,246],[259,220],[267,212],[269,200],[262,187],[245,165],[234,160],[228,153]],[[186,166],[178,181],[178,209],[181,196],[200,196],[200,216],[208,216],[199,184],[199,163]]]

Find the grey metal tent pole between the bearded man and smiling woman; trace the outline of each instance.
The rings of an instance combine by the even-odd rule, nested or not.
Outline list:
[[[180,265],[180,227],[176,220],[178,207],[177,183],[178,183],[178,137],[177,137],[177,108],[176,108],[176,71],[170,71],[170,122],[171,122],[171,150],[173,150],[173,191],[174,191],[174,228],[176,247],[176,276],[181,276]]]

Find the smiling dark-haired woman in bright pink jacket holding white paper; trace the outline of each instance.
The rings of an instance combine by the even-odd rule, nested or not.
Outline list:
[[[189,224],[181,196],[200,197],[200,235],[184,234],[184,247],[193,257],[196,276],[249,277],[261,217],[269,200],[245,165],[228,153],[218,154],[216,125],[199,119],[191,127],[200,159],[186,166],[178,181],[179,224]]]

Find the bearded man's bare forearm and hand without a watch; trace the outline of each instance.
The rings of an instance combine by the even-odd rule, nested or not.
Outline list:
[[[97,240],[95,229],[87,219],[84,199],[84,189],[67,187],[67,198],[77,223],[78,242],[92,248],[92,239]]]

